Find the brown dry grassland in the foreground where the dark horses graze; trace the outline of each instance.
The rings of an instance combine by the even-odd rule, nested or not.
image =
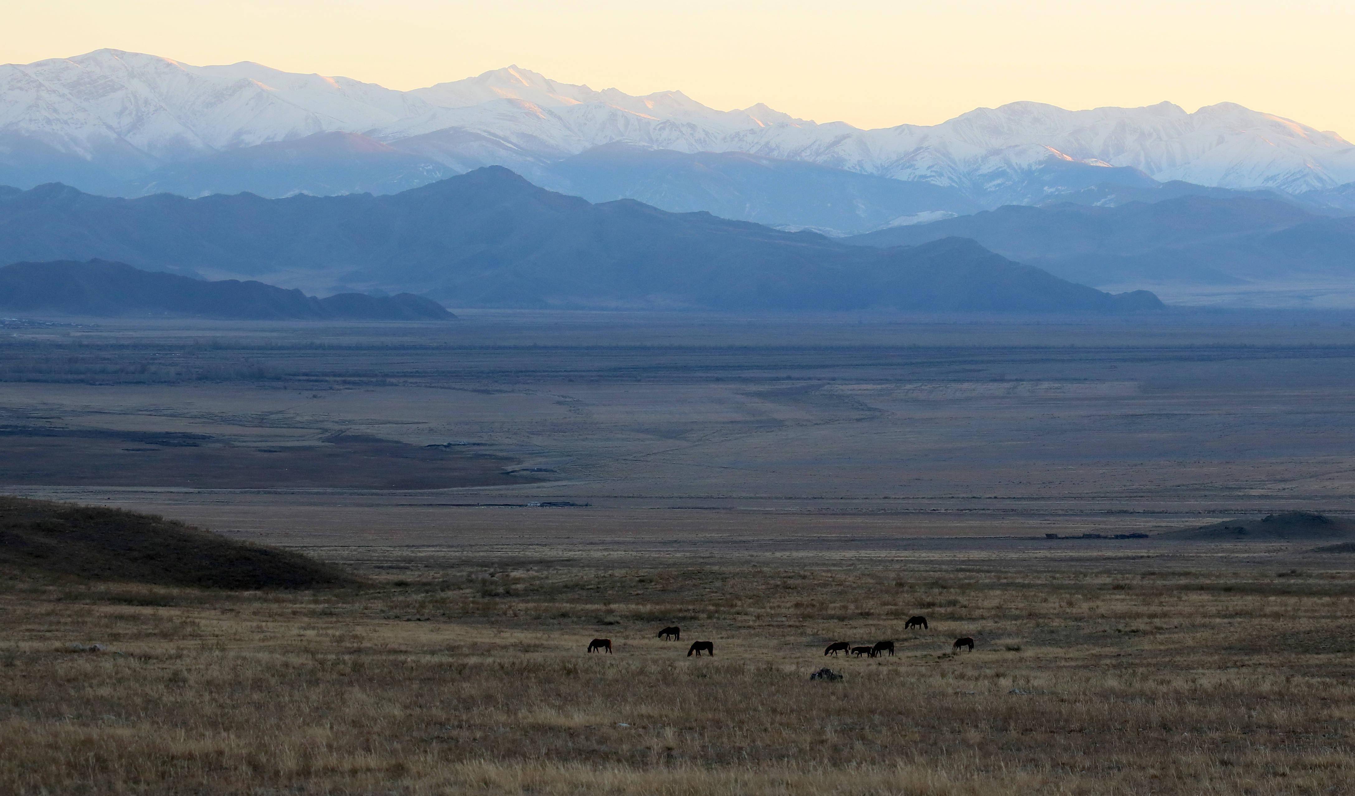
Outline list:
[[[1350,792],[1352,573],[955,560],[9,579],[0,792]],[[978,648],[951,655],[958,635]],[[698,639],[714,658],[686,657]],[[837,639],[898,655],[825,661]],[[825,662],[846,680],[810,682]]]

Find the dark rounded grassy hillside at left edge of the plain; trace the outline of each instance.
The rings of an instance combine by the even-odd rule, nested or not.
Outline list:
[[[316,589],[358,581],[298,552],[119,509],[0,497],[0,569],[206,589]]]

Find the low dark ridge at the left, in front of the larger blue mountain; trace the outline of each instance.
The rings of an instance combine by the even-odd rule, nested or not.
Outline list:
[[[0,311],[64,315],[190,315],[241,319],[434,321],[451,318],[416,295],[317,299],[262,282],[203,282],[123,263],[15,263],[0,268]]]

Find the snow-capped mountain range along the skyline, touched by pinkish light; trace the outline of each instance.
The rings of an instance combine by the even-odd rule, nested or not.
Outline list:
[[[408,92],[252,62],[191,66],[119,50],[0,66],[0,184],[60,180],[96,192],[195,194],[220,190],[211,158],[230,153],[237,172],[251,148],[295,160],[276,145],[305,149],[298,142],[308,137],[325,141],[331,154],[321,160],[341,168],[335,139],[320,135],[340,133],[358,142],[370,168],[385,168],[371,164],[388,156],[392,165],[375,187],[331,179],[321,192],[396,191],[489,164],[568,190],[551,183],[551,164],[618,143],[925,181],[980,206],[1037,203],[1103,181],[1287,194],[1355,183],[1355,146],[1340,135],[1230,103],[1186,112],[1171,103],[1065,111],[1019,102],[935,126],[860,130],[762,104],[717,111],[678,91],[595,91],[518,66]],[[184,168],[199,183],[178,187]],[[295,191],[313,192],[298,180]]]

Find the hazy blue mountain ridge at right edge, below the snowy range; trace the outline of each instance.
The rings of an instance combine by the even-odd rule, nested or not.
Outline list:
[[[1183,195],[1117,207],[1000,207],[846,238],[871,246],[974,238],[1005,257],[1085,284],[1240,284],[1355,275],[1355,218],[1291,202]]]

